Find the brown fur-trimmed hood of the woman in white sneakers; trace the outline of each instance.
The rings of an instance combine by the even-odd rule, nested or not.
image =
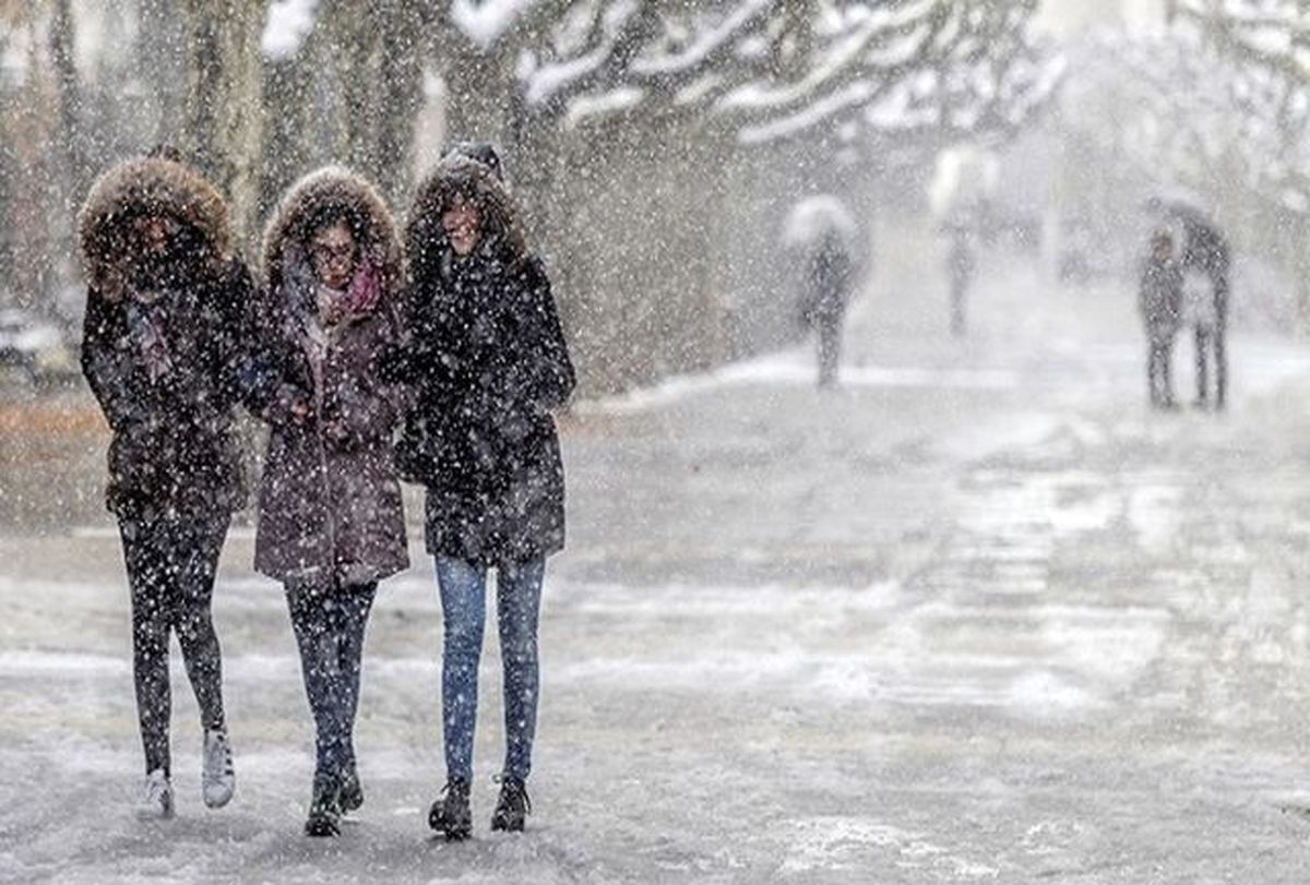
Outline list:
[[[92,186],[77,213],[86,279],[110,300],[121,293],[126,264],[135,255],[130,223],[143,215],[168,215],[185,224],[211,262],[231,257],[228,206],[214,185],[190,166],[164,157],[119,164]]]

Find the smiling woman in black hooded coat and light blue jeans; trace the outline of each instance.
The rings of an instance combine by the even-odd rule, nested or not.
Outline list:
[[[413,386],[398,456],[427,487],[427,550],[445,624],[447,787],[428,823],[472,830],[469,784],[486,576],[496,569],[506,761],[493,829],[521,830],[537,719],[537,619],[546,556],[565,545],[565,478],[550,410],[574,370],[545,268],[495,172],[455,153],[422,183],[405,229]]]

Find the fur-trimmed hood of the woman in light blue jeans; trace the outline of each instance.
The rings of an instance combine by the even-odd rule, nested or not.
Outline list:
[[[494,251],[508,266],[528,259],[528,249],[508,189],[483,162],[452,153],[419,183],[405,223],[405,254],[410,279],[423,284],[434,279],[453,255],[441,215],[455,198],[473,203],[482,215],[478,254]]]

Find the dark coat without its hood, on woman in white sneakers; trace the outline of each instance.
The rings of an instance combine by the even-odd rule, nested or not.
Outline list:
[[[174,280],[152,304],[131,287],[86,298],[81,365],[113,431],[106,504],[123,520],[231,515],[245,501],[234,407],[250,274],[233,259]]]

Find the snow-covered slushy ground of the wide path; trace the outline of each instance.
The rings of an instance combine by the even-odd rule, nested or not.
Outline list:
[[[200,804],[178,662],[164,823],[130,814],[117,541],[0,535],[0,881],[1305,882],[1310,355],[1238,335],[1229,414],[1154,415],[1123,287],[993,268],[972,306],[956,344],[941,280],[892,264],[836,391],[794,351],[578,408],[523,837],[485,826],[489,638],[477,838],[428,839],[418,546],[369,628],[367,803],[313,842],[309,713],[248,532],[215,601],[237,797]]]

